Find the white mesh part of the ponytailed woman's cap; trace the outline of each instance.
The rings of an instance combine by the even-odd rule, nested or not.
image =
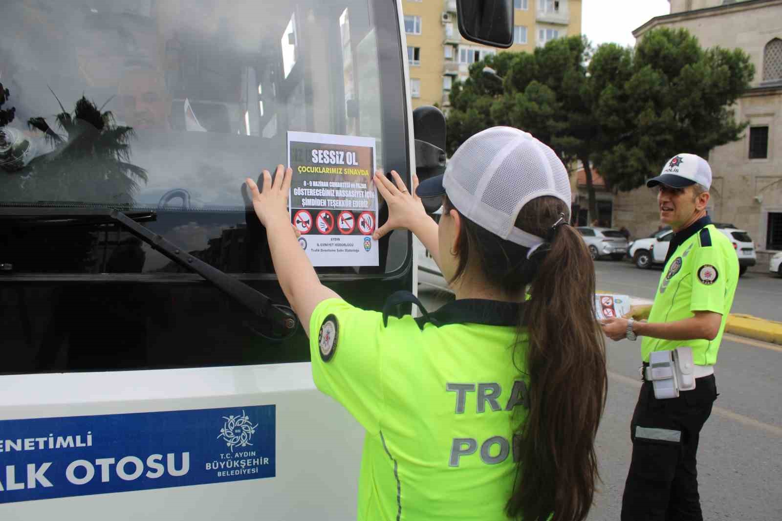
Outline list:
[[[518,128],[487,128],[468,138],[448,161],[443,189],[470,221],[528,248],[544,241],[515,227],[526,203],[541,196],[557,197],[565,203],[565,218],[570,219],[565,165],[554,150]]]

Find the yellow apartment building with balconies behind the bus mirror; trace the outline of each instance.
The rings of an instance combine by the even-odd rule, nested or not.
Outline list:
[[[549,40],[581,34],[582,0],[514,0],[514,44],[496,49],[461,38],[456,0],[403,0],[413,108],[437,104],[447,110],[454,81],[495,52],[532,52]]]

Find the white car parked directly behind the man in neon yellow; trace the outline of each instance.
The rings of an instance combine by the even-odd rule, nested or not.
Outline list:
[[[745,230],[738,229],[734,225],[723,223],[715,223],[714,225],[733,243],[738,257],[739,276],[744,275],[751,266],[757,263],[755,244],[752,243],[752,238]],[[657,232],[652,238],[633,241],[630,246],[630,257],[633,258],[636,267],[648,269],[652,264],[665,263],[671,239],[673,239],[673,231],[664,230]]]

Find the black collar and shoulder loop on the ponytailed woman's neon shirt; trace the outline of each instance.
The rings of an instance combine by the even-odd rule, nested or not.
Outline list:
[[[525,303],[504,302],[487,299],[459,299],[445,304],[437,311],[429,313],[409,291],[397,291],[389,296],[383,306],[383,325],[388,325],[388,316],[399,304],[413,303],[421,310],[421,316],[415,318],[418,327],[430,323],[437,327],[448,324],[518,325]]]

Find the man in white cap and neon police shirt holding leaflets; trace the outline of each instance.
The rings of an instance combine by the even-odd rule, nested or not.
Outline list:
[[[634,318],[603,322],[612,340],[644,336],[644,365],[652,351],[691,347],[694,390],[658,399],[644,381],[630,423],[633,459],[622,497],[622,520],[703,519],[695,453],[716,399],[714,364],[733,304],[738,259],[730,240],[706,214],[712,171],[694,154],[673,156],[658,177],[660,220],[673,228],[655,302]],[[644,378],[645,379],[645,378]]]

